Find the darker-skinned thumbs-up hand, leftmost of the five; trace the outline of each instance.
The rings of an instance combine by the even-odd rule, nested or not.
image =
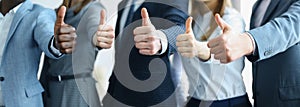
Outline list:
[[[57,13],[57,19],[54,27],[54,39],[55,48],[61,53],[70,54],[72,53],[75,46],[75,39],[77,37],[76,30],[74,27],[65,24],[64,18],[66,14],[66,7],[62,6],[59,8]]]

